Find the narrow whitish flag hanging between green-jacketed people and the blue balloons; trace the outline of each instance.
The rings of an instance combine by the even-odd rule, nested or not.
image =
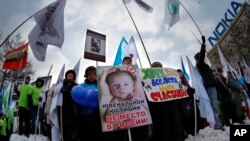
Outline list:
[[[65,64],[63,65],[60,71],[60,74],[58,76],[56,86],[54,89],[54,95],[53,95],[52,102],[51,102],[51,107],[50,107],[50,121],[52,124],[51,134],[52,134],[53,141],[60,141],[62,138],[60,134],[60,128],[59,128],[57,106],[62,105],[62,94],[60,91],[63,86],[64,71],[65,71]]]

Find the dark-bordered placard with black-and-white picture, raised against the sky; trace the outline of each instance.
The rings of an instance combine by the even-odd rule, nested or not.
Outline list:
[[[87,30],[84,58],[105,62],[106,35]]]

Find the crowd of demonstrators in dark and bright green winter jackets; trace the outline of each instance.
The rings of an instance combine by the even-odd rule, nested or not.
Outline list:
[[[244,80],[244,67],[238,69],[242,73],[234,74],[228,71],[227,76],[223,75],[222,68],[212,70],[205,63],[205,37],[202,37],[200,52],[194,58],[196,69],[200,73],[203,85],[210,99],[210,104],[214,113],[216,130],[224,130],[223,126],[233,123],[243,124],[246,118],[246,111],[249,109],[242,107],[244,98],[249,97],[249,83]],[[130,57],[124,57],[123,65],[131,65]],[[152,68],[162,68],[160,62],[154,62]],[[60,131],[63,133],[64,141],[128,141],[130,137],[133,141],[183,141],[188,134],[195,134],[195,119],[197,119],[197,131],[209,123],[200,117],[199,99],[194,98],[195,88],[190,87],[182,70],[177,69],[181,83],[187,87],[189,97],[166,102],[150,102],[148,106],[153,124],[135,127],[128,130],[113,132],[102,132],[99,109],[88,109],[80,106],[72,100],[71,89],[78,85],[76,83],[76,73],[68,70],[65,74],[61,92],[63,104],[58,107]],[[243,76],[239,77],[239,74]],[[85,70],[86,78],[84,83],[97,85],[96,68],[89,66]],[[17,91],[19,94],[19,134],[29,136],[34,134],[35,121],[38,111],[39,97],[43,87],[43,81],[37,79],[36,85],[29,84],[30,77],[27,76],[23,85]],[[81,84],[80,84],[81,85]],[[44,106],[40,109],[39,120],[42,127],[42,134],[51,138],[51,125],[49,121],[49,110],[53,98],[55,85],[45,93]],[[244,97],[244,93],[246,94]],[[196,104],[194,104],[196,103]],[[197,108],[195,118],[194,109]],[[62,110],[59,110],[62,109]],[[47,112],[46,112],[47,111]]]

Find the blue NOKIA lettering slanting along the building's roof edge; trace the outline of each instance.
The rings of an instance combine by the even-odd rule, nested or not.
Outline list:
[[[220,39],[223,33],[227,30],[228,26],[233,21],[234,17],[237,15],[241,6],[242,6],[241,3],[235,1],[231,2],[232,9],[231,10],[227,9],[227,11],[224,14],[224,18],[222,18],[221,21],[215,27],[213,35],[208,38],[208,41],[212,47]]]

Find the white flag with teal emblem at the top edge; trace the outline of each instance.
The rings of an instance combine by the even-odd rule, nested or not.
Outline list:
[[[179,9],[179,0],[165,1],[164,23],[169,25],[169,28],[180,20]]]

